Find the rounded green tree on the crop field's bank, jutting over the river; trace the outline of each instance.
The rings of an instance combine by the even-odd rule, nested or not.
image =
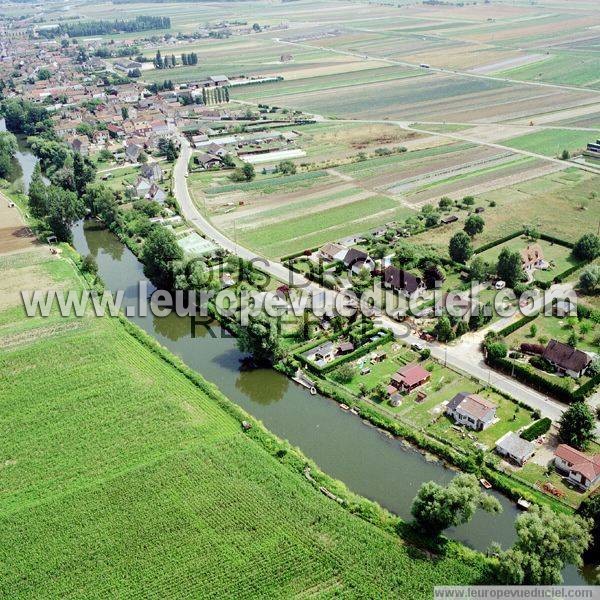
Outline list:
[[[448,527],[468,523],[475,511],[501,512],[498,500],[481,490],[474,475],[457,475],[445,488],[429,481],[415,497],[411,513],[417,525],[429,535],[437,536]]]

